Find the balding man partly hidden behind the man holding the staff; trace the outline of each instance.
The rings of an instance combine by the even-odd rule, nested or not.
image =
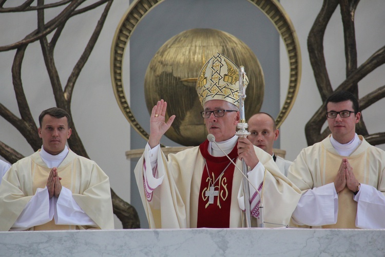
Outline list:
[[[248,131],[250,132],[250,135],[247,136],[248,140],[273,156],[273,160],[279,170],[283,175],[287,176],[288,168],[292,162],[275,155],[273,152],[274,141],[276,141],[279,136],[279,130],[274,118],[267,113],[257,113],[248,119],[247,124]]]

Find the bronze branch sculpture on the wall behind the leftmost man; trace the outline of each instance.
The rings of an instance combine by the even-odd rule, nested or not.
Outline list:
[[[1,103],[0,115],[9,123],[11,123],[25,137],[34,151],[37,151],[40,149],[42,141],[36,133],[37,126],[32,117],[27,102],[27,97],[24,94],[22,81],[22,64],[27,47],[29,44],[34,42],[40,42],[45,66],[51,81],[56,106],[65,109],[69,114],[71,114],[71,99],[73,88],[75,86],[76,80],[80,75],[80,72],[82,71],[82,68],[84,67],[92,52],[95,43],[98,40],[113,0],[100,0],[85,7],[84,4],[86,0],[63,0],[46,5],[44,4],[44,0],[26,0],[19,6],[8,8],[4,7],[6,2],[7,0],[0,0],[0,13],[21,13],[30,11],[37,12],[37,29],[31,31],[21,41],[17,41],[10,45],[0,46],[0,52],[16,49],[12,65],[12,82],[18,105],[18,111],[21,118],[18,118],[15,114],[10,112],[9,109]],[[36,2],[36,5],[32,6],[34,2]],[[80,8],[80,5],[83,7]],[[57,72],[55,66],[54,49],[56,43],[59,40],[67,21],[71,19],[71,17],[98,8],[102,5],[105,5],[104,11],[88,41],[86,48],[84,49],[78,62],[73,67],[72,72],[67,79],[67,83],[63,89],[63,85],[59,77],[59,72]],[[45,22],[45,10],[54,7],[62,7],[63,10],[52,20]],[[48,41],[47,36],[51,34],[51,41]],[[75,124],[73,122],[71,124],[71,128],[72,135],[68,140],[69,147],[76,154],[89,158],[82,140],[80,139],[79,134],[76,132]],[[0,155],[11,163],[14,163],[24,157],[22,154],[18,153],[15,149],[2,141],[0,141]],[[122,222],[123,228],[140,228],[140,221],[137,211],[131,205],[122,200],[117,194],[115,194],[112,189],[111,196],[113,212]]]

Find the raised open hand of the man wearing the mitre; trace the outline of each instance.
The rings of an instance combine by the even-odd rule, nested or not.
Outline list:
[[[163,99],[158,101],[157,105],[153,106],[150,117],[150,136],[148,138],[148,145],[154,148],[160,143],[164,133],[170,128],[175,119],[172,115],[167,122],[165,122],[165,115],[167,109],[167,102]]]

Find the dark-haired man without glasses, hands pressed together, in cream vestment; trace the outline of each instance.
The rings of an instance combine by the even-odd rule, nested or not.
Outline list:
[[[0,185],[0,230],[113,229],[108,176],[66,146],[69,114],[49,108],[39,123],[42,149],[14,163]]]

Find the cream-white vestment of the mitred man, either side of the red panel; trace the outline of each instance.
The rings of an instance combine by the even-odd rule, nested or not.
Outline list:
[[[232,141],[230,149],[236,145],[237,138],[230,140]],[[209,143],[209,153],[213,153],[211,148],[214,147]],[[265,226],[283,227],[290,220],[289,216],[298,203],[300,191],[279,171],[271,155],[256,146],[254,149],[259,163],[254,170],[248,172],[248,176],[256,187],[263,185],[261,194]],[[202,193],[201,178],[205,165],[199,146],[177,154],[169,154],[168,160],[159,148],[156,153],[156,167],[151,167],[151,152],[147,144],[135,168],[150,228],[196,228],[198,201]],[[242,162],[239,159],[236,160],[236,164],[242,170]],[[155,173],[152,168],[155,168]],[[242,175],[235,170],[231,185],[234,190],[229,199],[231,201],[229,227],[245,226],[242,220],[243,197],[239,197],[241,185]],[[249,188],[253,198],[256,195],[255,190],[252,186]],[[255,209],[253,204],[255,205],[258,199],[259,195],[252,199],[252,210]]]

